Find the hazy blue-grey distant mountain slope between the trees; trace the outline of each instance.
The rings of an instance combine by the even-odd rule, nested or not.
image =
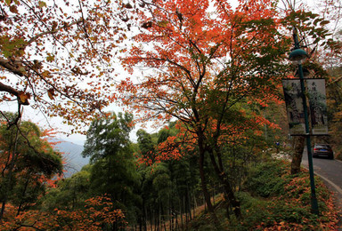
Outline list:
[[[72,174],[80,171],[85,164],[89,163],[90,158],[84,158],[81,155],[84,149],[83,146],[61,139],[53,139],[52,141],[59,142],[55,145],[55,149],[56,151],[63,153],[66,162],[64,164],[65,178],[69,178]]]

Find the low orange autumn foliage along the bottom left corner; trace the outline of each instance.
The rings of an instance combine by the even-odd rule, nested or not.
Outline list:
[[[16,216],[16,208],[8,206],[0,230],[102,230],[103,226],[117,224],[126,227],[125,215],[113,209],[113,203],[106,195],[92,197],[85,201],[85,209],[53,212],[25,211]]]

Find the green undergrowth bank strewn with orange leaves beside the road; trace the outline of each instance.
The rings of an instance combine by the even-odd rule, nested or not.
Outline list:
[[[272,161],[259,163],[251,169],[246,182],[236,195],[240,200],[242,219],[224,206],[216,209],[224,230],[337,230],[338,211],[331,193],[315,177],[320,215],[311,212],[311,190],[308,171],[290,175],[289,163]],[[217,228],[216,228],[217,229]],[[208,213],[193,220],[188,230],[215,230]]]

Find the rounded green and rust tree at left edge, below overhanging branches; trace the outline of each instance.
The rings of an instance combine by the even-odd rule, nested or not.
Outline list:
[[[8,115],[6,118],[16,116]],[[35,123],[21,122],[20,129],[0,126],[0,220],[7,203],[17,206],[17,215],[34,207],[55,175],[61,174],[61,155],[53,151],[44,138],[48,132],[40,131]]]

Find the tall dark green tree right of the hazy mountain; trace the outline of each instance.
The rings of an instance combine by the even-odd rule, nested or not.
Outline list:
[[[93,163],[90,174],[90,195],[106,194],[114,209],[126,212],[126,219],[134,221],[135,203],[140,196],[134,188],[138,184],[129,132],[133,116],[118,113],[94,120],[87,132],[84,156]]]

